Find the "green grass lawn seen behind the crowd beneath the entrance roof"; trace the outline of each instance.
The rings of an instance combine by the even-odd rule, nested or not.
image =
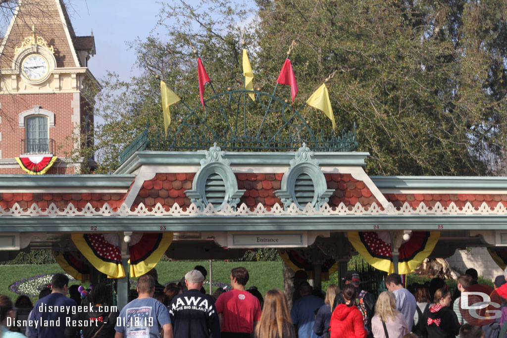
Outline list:
[[[175,280],[180,280],[187,272],[196,265],[202,265],[208,270],[209,281],[209,261],[165,261],[159,262],[157,272],[159,282],[166,284]],[[245,267],[248,269],[250,280],[246,287],[255,285],[264,295],[270,289],[283,289],[283,267],[281,261],[267,262],[229,262],[214,261],[213,281],[230,283],[231,269],[236,267]],[[0,294],[6,294],[15,301],[18,295],[9,289],[9,286],[23,278],[34,277],[43,274],[63,272],[58,264],[47,265],[3,265],[0,266]],[[79,282],[71,284],[79,284]],[[212,288],[213,291],[216,287]],[[206,288],[208,291],[208,287]]]

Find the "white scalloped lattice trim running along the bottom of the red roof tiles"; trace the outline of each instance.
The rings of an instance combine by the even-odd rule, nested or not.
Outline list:
[[[507,208],[503,204],[498,203],[496,207],[491,208],[486,203],[483,203],[479,208],[475,208],[472,204],[466,203],[463,208],[457,207],[451,203],[449,207],[444,207],[440,203],[434,207],[427,207],[424,204],[419,204],[417,208],[413,208],[410,204],[405,203],[403,207],[396,208],[392,203],[389,203],[386,208],[379,207],[373,203],[371,207],[364,207],[357,203],[354,207],[346,206],[340,203],[337,207],[330,207],[329,204],[324,205],[316,210],[310,203],[304,209],[298,208],[294,203],[284,209],[279,204],[275,204],[272,208],[267,209],[264,205],[258,204],[253,210],[246,206],[244,203],[236,209],[232,208],[229,204],[217,211],[215,208],[208,204],[204,210],[199,210],[195,204],[191,204],[187,209],[182,209],[179,205],[174,204],[172,208],[163,207],[157,204],[153,208],[146,207],[144,204],[139,204],[135,210],[130,210],[126,204],[122,204],[116,211],[113,210],[107,203],[101,208],[93,208],[91,204],[87,204],[83,209],[76,208],[73,204],[60,210],[55,204],[51,203],[47,209],[39,208],[37,205],[32,204],[27,210],[23,210],[17,203],[10,209],[0,207],[0,216],[253,216],[253,215],[505,215]]]

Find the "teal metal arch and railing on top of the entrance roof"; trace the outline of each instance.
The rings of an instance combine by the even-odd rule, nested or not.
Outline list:
[[[252,101],[248,94],[255,95]],[[357,148],[355,124],[340,134],[318,111],[305,119],[306,104],[295,109],[280,98],[262,91],[230,90],[204,101],[204,107],[176,112],[179,126],[167,136],[162,128],[147,126],[120,155],[123,163],[133,153],[152,151],[196,151],[217,143],[226,151],[297,151],[306,143],[313,151],[350,152]],[[309,108],[310,109],[310,108]],[[180,109],[181,110],[181,109]]]

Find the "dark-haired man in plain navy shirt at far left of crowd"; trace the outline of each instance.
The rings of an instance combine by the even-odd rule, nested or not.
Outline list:
[[[67,318],[76,311],[76,302],[67,298],[68,277],[56,274],[51,279],[51,294],[39,299],[28,318],[30,338],[64,338]]]

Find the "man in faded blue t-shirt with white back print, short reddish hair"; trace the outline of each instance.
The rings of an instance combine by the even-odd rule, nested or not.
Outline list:
[[[167,307],[152,298],[155,293],[155,280],[142,275],[137,280],[138,297],[127,304],[116,320],[115,338],[173,338],[171,319]]]

